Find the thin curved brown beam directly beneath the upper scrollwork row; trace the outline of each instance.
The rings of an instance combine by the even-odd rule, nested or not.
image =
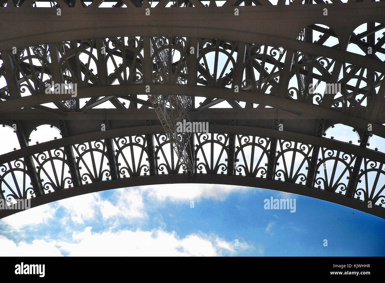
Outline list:
[[[84,87],[78,88],[78,98],[83,97],[95,97],[103,96],[108,92],[114,92],[116,95],[123,94],[146,94],[144,85],[110,85],[107,87],[96,86],[96,87]],[[341,113],[333,109],[320,107],[319,105],[309,104],[294,99],[286,99],[282,97],[276,97],[273,95],[259,94],[257,92],[249,92],[240,90],[239,93],[234,93],[233,89],[228,88],[216,88],[206,86],[193,86],[193,85],[166,85],[166,84],[153,84],[151,85],[152,95],[162,95],[165,93],[176,93],[187,96],[199,96],[199,97],[214,97],[224,98],[231,100],[238,100],[242,97],[243,101],[252,102],[256,104],[269,105],[277,107],[282,110],[288,110],[293,112],[305,113],[318,119],[328,119],[336,123],[345,124],[355,129],[362,131],[367,130],[367,120],[359,117],[353,117],[349,114]],[[0,104],[0,112],[18,109],[20,107],[32,106],[37,103],[47,103],[59,100],[70,99],[70,94],[37,94],[26,97],[20,97],[17,99],[3,101]],[[373,123],[372,134],[385,138],[385,126],[377,123]]]

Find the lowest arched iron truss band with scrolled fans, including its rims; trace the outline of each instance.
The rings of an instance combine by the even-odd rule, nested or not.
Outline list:
[[[258,127],[244,127],[244,126],[229,126],[229,125],[209,125],[212,133],[209,134],[194,134],[194,156],[196,161],[196,172],[194,173],[194,179],[175,179],[176,183],[183,181],[186,182],[199,182],[203,180],[201,175],[212,176],[213,180],[218,180],[223,176],[233,176],[231,179],[223,179],[219,183],[224,184],[248,184],[249,186],[263,187],[263,188],[277,188],[280,186],[280,190],[288,188],[290,192],[303,194],[306,196],[316,197],[319,199],[327,199],[328,201],[340,203],[345,206],[357,208],[362,211],[377,215],[385,218],[385,210],[381,207],[385,195],[383,190],[378,190],[378,186],[381,186],[379,180],[385,174],[385,154],[371,154],[370,150],[363,149],[362,147],[353,146],[352,144],[346,144],[345,142],[330,140],[328,144],[325,144],[324,138],[316,136],[305,136],[303,134],[290,134],[285,131],[277,131],[275,129],[262,129]],[[222,134],[221,131],[227,129],[234,134]],[[103,170],[93,170],[92,167],[80,168],[80,177],[82,184],[80,186],[74,186],[78,188],[77,191],[71,191],[69,184],[72,184],[71,174],[64,174],[62,180],[59,178],[56,184],[50,183],[47,186],[49,179],[43,178],[41,180],[42,187],[44,188],[44,194],[37,196],[32,193],[34,197],[32,204],[38,205],[52,201],[53,199],[60,199],[68,197],[68,194],[82,194],[89,192],[87,188],[99,188],[109,189],[111,186],[133,186],[135,184],[147,184],[146,178],[150,176],[158,175],[170,175],[177,178],[178,173],[183,173],[183,164],[178,158],[177,154],[171,154],[173,151],[172,142],[168,139],[167,134],[151,134],[152,132],[162,132],[162,126],[140,126],[129,127],[122,129],[114,129],[107,131],[98,131],[94,133],[93,141],[85,142],[89,140],[89,135],[83,134],[73,137],[63,137],[45,144],[36,144],[29,146],[28,153],[20,149],[18,151],[10,152],[2,156],[3,169],[0,177],[2,182],[7,181],[6,176],[8,174],[14,174],[25,168],[27,164],[23,156],[32,154],[36,156],[42,148],[45,151],[50,149],[70,147],[75,152],[79,152],[79,158],[77,158],[77,164],[87,163],[87,156],[96,156],[102,154],[102,163],[100,168]],[[239,134],[247,132],[247,135]],[[122,134],[126,136],[121,136]],[[255,136],[255,134],[259,134]],[[114,137],[114,136],[119,137]],[[133,136],[132,136],[133,135]],[[153,141],[153,147],[147,143],[148,138]],[[286,137],[290,137],[287,139]],[[122,180],[120,183],[114,183],[114,180],[108,178],[112,174],[112,167],[108,166],[109,152],[107,150],[107,141],[109,139],[114,140],[114,144],[117,145],[114,152],[114,158],[119,162],[117,167],[120,172],[120,178],[116,180]],[[231,151],[231,139],[235,139],[235,151]],[[271,154],[272,142],[276,141],[276,161],[273,172],[273,179],[268,178],[268,159]],[[90,144],[89,147],[80,148],[79,142],[83,144]],[[72,145],[70,145],[72,144]],[[325,147],[326,146],[326,147]],[[280,149],[278,151],[278,148]],[[315,148],[320,148],[319,159],[315,163],[316,174],[314,176],[314,185],[308,186],[306,182],[306,176],[310,174],[309,164],[313,162],[312,152]],[[357,149],[360,148],[358,151]],[[131,155],[134,149],[139,150],[136,156]],[[214,154],[215,153],[215,154]],[[154,154],[154,158],[151,155]],[[234,158],[231,157],[234,154]],[[293,164],[291,162],[292,156],[296,156],[298,162]],[[348,191],[351,181],[346,179],[346,176],[352,176],[355,170],[355,164],[359,156],[365,157],[365,161],[360,165],[360,173],[357,176],[357,187],[354,190],[352,196],[349,196]],[[49,156],[46,158],[47,162],[43,165],[45,169],[48,169],[50,162],[54,160],[55,156]],[[153,165],[151,164],[157,160],[155,172],[150,171]],[[232,162],[229,165],[229,161]],[[56,162],[55,167],[51,167],[51,170],[58,170],[61,166],[67,166],[69,159],[62,159],[62,163]],[[333,173],[333,166],[324,167],[325,162],[332,162],[333,164],[340,164],[342,170],[338,173]],[[25,166],[15,167],[16,163],[26,164]],[[286,166],[280,166],[283,163]],[[233,169],[235,168],[234,174]],[[22,171],[29,178],[30,175],[27,170]],[[377,174],[377,178],[369,178],[371,174]],[[41,174],[41,173],[40,173]],[[140,178],[139,180],[135,178]],[[72,181],[63,182],[65,179]],[[132,181],[135,179],[135,181]],[[243,181],[243,180],[249,181]],[[140,181],[142,180],[142,181]],[[162,179],[157,179],[157,182],[162,182]],[[170,179],[167,179],[170,181]],[[177,181],[179,180],[179,181]],[[209,179],[207,179],[208,182]],[[22,180],[20,180],[22,182]],[[134,183],[132,183],[134,182]],[[217,181],[216,181],[217,182]],[[246,182],[246,183],[245,183]],[[99,183],[102,187],[99,187]],[[171,179],[171,183],[174,183]],[[272,185],[272,183],[279,183],[279,185]],[[18,183],[19,185],[21,183]],[[89,186],[94,184],[95,186]],[[119,184],[119,185],[117,185]],[[51,190],[52,186],[56,187]],[[84,189],[80,189],[84,187]],[[68,192],[68,194],[66,193]],[[23,191],[21,191],[21,194]],[[52,195],[48,197],[49,195]],[[17,191],[13,191],[9,188],[3,190],[0,196],[8,201],[12,199],[23,198]],[[368,208],[368,201],[372,201],[373,209]],[[13,211],[13,213],[16,211]],[[0,212],[1,216],[5,216],[5,213],[10,211]],[[12,213],[12,211],[11,211]],[[8,214],[7,214],[8,215]]]

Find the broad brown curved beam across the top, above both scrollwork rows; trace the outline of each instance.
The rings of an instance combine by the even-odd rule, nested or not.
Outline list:
[[[325,7],[328,8],[327,17],[323,15]],[[155,33],[168,35],[170,30],[179,35],[186,34],[186,36],[205,38],[218,38],[218,36],[227,34],[223,39],[228,39],[231,32],[238,33],[236,35],[244,39],[250,37],[245,36],[244,32],[248,35],[255,35],[255,27],[258,27],[261,35],[277,35],[286,39],[295,39],[303,28],[313,23],[327,25],[341,36],[344,33],[352,33],[354,28],[362,22],[381,22],[385,14],[383,2],[237,7],[239,16],[234,16],[234,7],[226,6],[206,8],[200,5],[188,9],[150,8],[150,16],[146,16],[145,8],[144,6],[132,9],[62,7],[65,20],[58,20],[55,9],[0,8],[3,27],[0,50],[10,50],[13,46],[21,47],[25,42],[41,44],[42,42],[59,42],[63,39],[107,37],[110,34],[128,35],[128,33],[143,36],[151,36]],[[357,17],[357,9],[360,9],[360,17]],[[15,14],[18,15],[19,11],[23,12],[23,18],[15,22]],[[111,12],[114,13],[114,17],[111,17]],[[207,16],[207,13],[210,13],[210,17]],[[95,18],[98,20],[95,21]],[[274,19],[274,22],[271,19]],[[293,21],[293,19],[296,20]],[[30,25],[30,22],[36,24]],[[204,30],[201,29],[203,22],[205,23]],[[255,39],[251,39],[249,42],[261,43],[260,40]],[[295,50],[282,43],[276,42],[276,46]]]

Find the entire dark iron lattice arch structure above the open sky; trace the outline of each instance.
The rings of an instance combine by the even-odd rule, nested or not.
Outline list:
[[[218,183],[385,218],[385,153],[367,147],[385,138],[385,2],[0,3],[0,124],[18,139],[0,155],[8,203]],[[176,135],[183,119],[209,134]],[[358,142],[324,137],[335,124]],[[32,144],[41,125],[57,139]]]

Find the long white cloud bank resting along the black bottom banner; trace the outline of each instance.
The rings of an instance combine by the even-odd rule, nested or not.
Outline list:
[[[31,244],[0,236],[0,245],[7,246],[7,255],[12,256],[224,256],[236,255],[244,247],[253,249],[247,243],[234,243],[216,235],[190,234],[180,238],[176,232],[162,229],[152,231],[124,230],[92,233],[87,227],[72,235],[72,241],[35,240]],[[1,254],[0,254],[1,255]],[[3,255],[2,255],[3,256]]]

